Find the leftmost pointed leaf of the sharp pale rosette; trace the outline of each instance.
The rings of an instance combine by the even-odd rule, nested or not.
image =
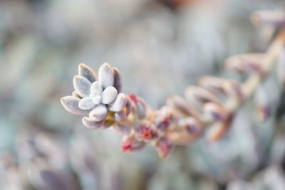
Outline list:
[[[71,112],[76,115],[87,115],[88,110],[81,110],[78,107],[78,103],[80,100],[81,99],[79,99],[78,97],[69,95],[66,97],[61,97],[61,104],[68,112]]]

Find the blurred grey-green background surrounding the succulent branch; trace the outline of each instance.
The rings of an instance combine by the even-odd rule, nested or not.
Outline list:
[[[120,134],[88,130],[63,109],[78,63],[119,68],[123,92],[159,108],[201,75],[223,75],[225,58],[265,51],[249,21],[284,0],[0,1],[0,189],[285,189],[284,87],[262,88],[218,142],[202,138],[161,160],[147,147],[120,151]]]

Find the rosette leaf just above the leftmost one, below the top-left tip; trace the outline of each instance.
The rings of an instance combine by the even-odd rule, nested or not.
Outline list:
[[[75,75],[73,78],[74,89],[81,97],[87,97],[90,94],[90,85],[90,81],[83,76]]]

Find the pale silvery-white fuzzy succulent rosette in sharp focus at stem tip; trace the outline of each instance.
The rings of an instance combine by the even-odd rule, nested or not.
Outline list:
[[[124,110],[128,99],[122,90],[122,79],[117,68],[104,63],[98,70],[98,76],[88,65],[78,66],[78,75],[73,78],[75,91],[62,97],[63,107],[75,115],[83,117],[83,125],[88,128],[110,126],[115,120],[127,117]],[[110,117],[112,122],[107,118]]]

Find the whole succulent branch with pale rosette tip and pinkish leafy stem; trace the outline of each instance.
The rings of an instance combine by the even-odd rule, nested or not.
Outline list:
[[[61,103],[69,112],[83,117],[88,128],[113,127],[123,134],[122,150],[133,152],[152,144],[160,157],[165,158],[175,144],[187,144],[202,136],[207,128],[208,138],[217,140],[229,129],[235,113],[249,100],[262,79],[283,51],[285,43],[284,14],[254,13],[252,20],[274,23],[277,36],[266,53],[248,53],[228,58],[224,66],[229,71],[247,75],[245,81],[204,76],[197,86],[185,90],[185,99],[172,96],[167,105],[152,110],[141,97],[121,93],[122,78],[116,68],[104,63],[95,71],[81,63],[73,78],[75,91],[62,97]],[[283,81],[282,81],[283,83]],[[269,116],[266,95],[257,90],[257,117]]]

